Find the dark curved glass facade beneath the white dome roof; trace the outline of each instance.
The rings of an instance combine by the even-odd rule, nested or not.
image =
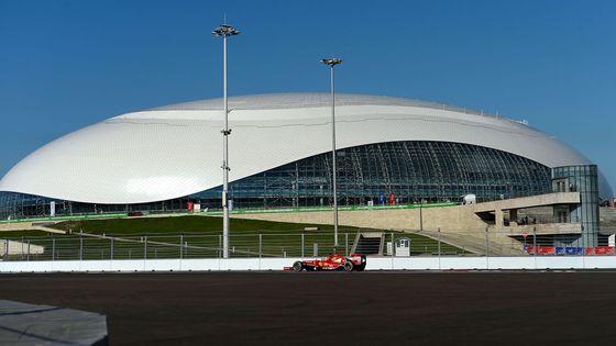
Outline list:
[[[234,209],[332,205],[332,157],[323,153],[230,183]],[[534,160],[450,142],[386,142],[337,152],[339,205],[477,201],[549,193],[551,170]],[[56,214],[174,211],[186,202],[220,209],[221,187],[193,196],[144,204],[89,204],[54,200]],[[52,199],[0,192],[0,217],[48,215]]]

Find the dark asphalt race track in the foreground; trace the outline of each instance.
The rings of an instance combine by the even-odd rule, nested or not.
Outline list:
[[[609,345],[616,272],[2,275],[107,315],[111,345]]]

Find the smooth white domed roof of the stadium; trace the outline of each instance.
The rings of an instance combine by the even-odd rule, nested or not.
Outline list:
[[[231,180],[331,150],[329,93],[229,99]],[[513,153],[549,167],[591,161],[522,123],[415,100],[337,94],[339,148],[392,141],[442,141]],[[0,191],[89,203],[144,203],[222,182],[222,99],[122,114],[35,150]],[[601,177],[604,196],[612,193]]]

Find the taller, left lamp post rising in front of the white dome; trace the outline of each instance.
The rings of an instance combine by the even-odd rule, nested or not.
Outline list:
[[[222,36],[223,59],[223,102],[224,102],[224,129],[222,133],[222,257],[229,258],[229,102],[227,100],[227,36],[238,35],[240,32],[230,25],[220,25],[212,31],[216,36]]]

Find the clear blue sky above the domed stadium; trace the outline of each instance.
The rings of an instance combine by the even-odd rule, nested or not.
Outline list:
[[[337,90],[528,120],[616,188],[616,1],[0,0],[0,176],[37,147],[132,110]],[[41,174],[45,174],[42,171]]]

